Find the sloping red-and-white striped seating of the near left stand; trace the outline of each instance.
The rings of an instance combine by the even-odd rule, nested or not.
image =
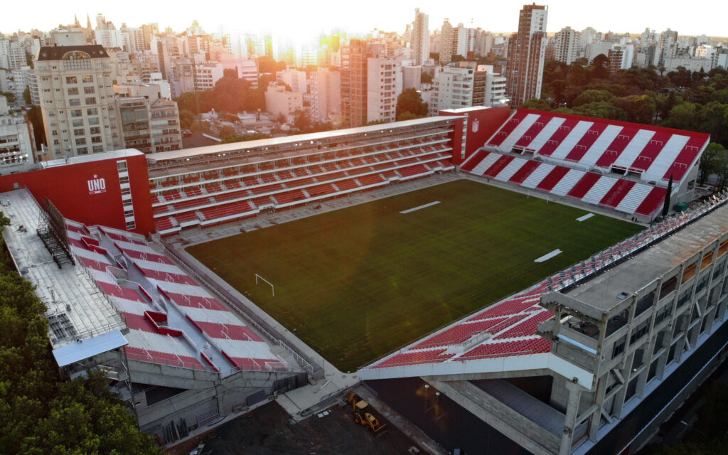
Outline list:
[[[85,226],[68,226],[69,240],[75,242],[71,248],[79,263],[89,268],[99,290],[114,302],[130,329],[125,335],[129,345],[124,348],[130,361],[225,375],[232,369],[289,370],[258,333],[141,236],[100,226],[91,234]],[[83,242],[87,235],[93,235],[95,238],[88,238],[94,242]],[[130,268],[123,269],[124,264],[114,260],[119,254]],[[114,269],[109,268],[111,261],[115,262]],[[199,350],[205,340],[210,347]]]

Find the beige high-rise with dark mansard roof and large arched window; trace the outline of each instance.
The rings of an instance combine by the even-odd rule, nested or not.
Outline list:
[[[52,159],[122,147],[111,58],[102,46],[41,47],[35,74]]]

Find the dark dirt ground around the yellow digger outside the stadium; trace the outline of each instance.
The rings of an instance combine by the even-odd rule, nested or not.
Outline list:
[[[355,424],[348,405],[344,408],[333,405],[328,412],[328,416],[314,415],[303,422],[291,423],[290,416],[278,403],[269,403],[223,424],[207,435],[201,455],[400,455],[414,454],[420,450],[389,424],[386,431],[382,430],[377,435]],[[380,420],[387,423],[384,419]],[[187,449],[187,446],[191,447]],[[197,443],[186,445],[187,451],[174,452],[186,454],[195,446]],[[410,451],[412,447],[415,448]]]

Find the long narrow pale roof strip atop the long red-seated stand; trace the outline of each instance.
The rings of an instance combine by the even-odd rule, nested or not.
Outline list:
[[[306,141],[320,141],[328,138],[340,138],[344,135],[366,134],[368,132],[384,132],[384,130],[392,130],[394,128],[416,127],[419,125],[437,124],[452,122],[457,116],[439,116],[426,117],[424,119],[405,120],[403,122],[393,122],[387,124],[373,124],[365,127],[348,128],[346,130],[331,130],[322,132],[311,132],[308,134],[299,134],[293,136],[285,136],[282,138],[258,139],[256,141],[235,142],[226,144],[217,144],[213,146],[196,147],[194,149],[182,149],[173,151],[162,151],[154,154],[147,154],[148,162],[157,163],[165,160],[184,159],[188,157],[199,157],[205,154],[219,154],[229,151],[240,151],[241,149],[255,149],[266,146],[280,146],[289,143],[304,143]]]

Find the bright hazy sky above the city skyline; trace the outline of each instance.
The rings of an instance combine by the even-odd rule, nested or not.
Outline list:
[[[350,32],[367,32],[378,28],[402,33],[405,25],[414,20],[416,7],[430,15],[430,31],[440,28],[447,17],[453,25],[464,23],[488,31],[510,33],[517,27],[518,11],[523,7],[523,0],[453,3],[442,0],[214,0],[210,1],[209,7],[205,2],[188,0],[38,0],[29,4],[22,1],[6,3],[0,15],[2,33],[19,29],[29,31],[31,28],[49,31],[59,23],[73,23],[74,13],[85,25],[88,12],[94,26],[96,14],[102,13],[116,28],[121,27],[122,23],[137,27],[143,23],[156,22],[161,30],[169,25],[175,31],[183,31],[192,20],[197,20],[207,33],[214,33],[220,25],[224,25],[229,32],[256,33],[270,28],[292,36],[315,36],[332,28]],[[550,0],[538,4],[547,4],[549,8],[549,32],[571,26],[577,30],[593,27],[603,32],[641,33],[649,27],[658,32],[671,28],[681,35],[705,33],[708,36],[728,36],[725,22],[728,6],[724,0],[705,0],[697,8],[682,4],[678,10],[671,3],[662,3],[660,7],[652,1],[638,0],[594,2],[593,7],[585,7],[582,0]],[[711,11],[721,14],[709,14]]]

